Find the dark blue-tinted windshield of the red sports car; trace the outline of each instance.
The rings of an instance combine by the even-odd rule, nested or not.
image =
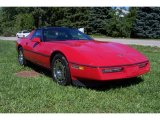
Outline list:
[[[44,29],[44,41],[93,40],[77,29],[48,28]]]

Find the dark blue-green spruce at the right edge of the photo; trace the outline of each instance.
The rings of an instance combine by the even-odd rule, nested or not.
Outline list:
[[[143,7],[137,12],[132,37],[160,38],[160,8]]]

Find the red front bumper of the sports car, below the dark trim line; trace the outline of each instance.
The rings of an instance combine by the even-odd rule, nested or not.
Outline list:
[[[146,65],[143,67],[140,67],[141,63],[146,63]],[[118,67],[122,67],[123,68],[122,71],[111,72],[111,73],[102,72],[104,68],[108,68],[108,67],[93,67],[93,66],[77,65],[77,66],[83,67],[83,69],[76,69],[75,67],[73,67],[74,65],[77,65],[77,64],[75,63],[69,64],[72,80],[89,79],[89,80],[106,81],[106,80],[133,78],[133,77],[137,77],[139,75],[145,74],[150,70],[149,61],[130,64],[130,65],[121,65]]]

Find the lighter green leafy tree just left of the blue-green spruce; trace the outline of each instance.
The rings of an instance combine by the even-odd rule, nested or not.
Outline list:
[[[106,20],[105,30],[107,36],[130,37],[133,22],[136,16],[136,8],[130,8],[127,15],[116,14],[117,10],[110,12],[111,18]]]

